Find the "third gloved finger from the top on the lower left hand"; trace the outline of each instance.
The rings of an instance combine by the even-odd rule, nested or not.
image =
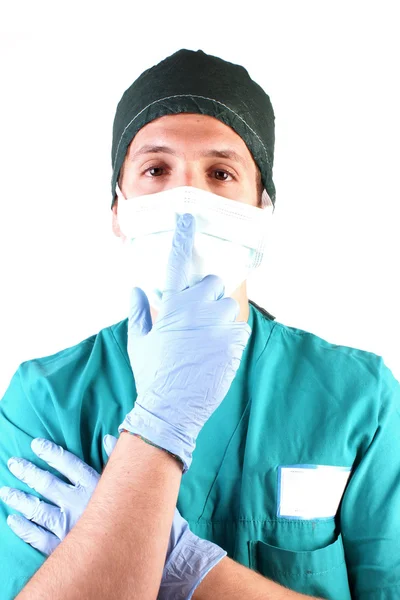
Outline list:
[[[29,521],[45,527],[60,539],[65,537],[64,519],[57,506],[47,504],[47,502],[39,500],[37,496],[26,494],[15,488],[3,487],[1,499],[8,506],[22,513]]]

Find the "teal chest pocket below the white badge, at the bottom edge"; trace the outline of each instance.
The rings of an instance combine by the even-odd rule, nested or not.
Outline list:
[[[318,550],[294,552],[250,541],[249,566],[290,590],[327,600],[351,600],[342,536]]]

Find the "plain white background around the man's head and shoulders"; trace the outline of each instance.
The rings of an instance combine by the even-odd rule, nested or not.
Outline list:
[[[3,6],[0,397],[21,362],[127,317],[112,121],[181,48],[242,64],[274,106],[277,207],[250,299],[400,379],[397,2]]]

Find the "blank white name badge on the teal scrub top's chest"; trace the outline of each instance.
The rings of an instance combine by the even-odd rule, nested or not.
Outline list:
[[[278,517],[325,519],[337,513],[351,467],[285,465],[278,469]]]

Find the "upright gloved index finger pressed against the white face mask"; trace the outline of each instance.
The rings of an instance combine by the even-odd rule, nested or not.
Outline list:
[[[187,224],[186,224],[187,223]],[[168,257],[163,302],[189,287],[190,261],[196,231],[193,215],[186,213],[177,221]]]

